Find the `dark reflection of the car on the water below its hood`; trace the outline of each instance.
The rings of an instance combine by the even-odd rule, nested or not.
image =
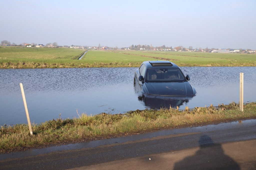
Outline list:
[[[145,106],[150,109],[161,109],[170,107],[176,108],[177,106],[186,105],[193,97],[167,97],[167,96],[153,96],[147,94],[138,95],[138,100],[143,101]]]

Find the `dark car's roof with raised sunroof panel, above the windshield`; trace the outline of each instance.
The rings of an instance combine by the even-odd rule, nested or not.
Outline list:
[[[176,64],[170,61],[144,61],[146,68],[179,68]]]

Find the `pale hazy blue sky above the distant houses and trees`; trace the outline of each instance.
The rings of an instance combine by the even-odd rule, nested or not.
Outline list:
[[[0,41],[256,49],[256,1],[2,1]]]

